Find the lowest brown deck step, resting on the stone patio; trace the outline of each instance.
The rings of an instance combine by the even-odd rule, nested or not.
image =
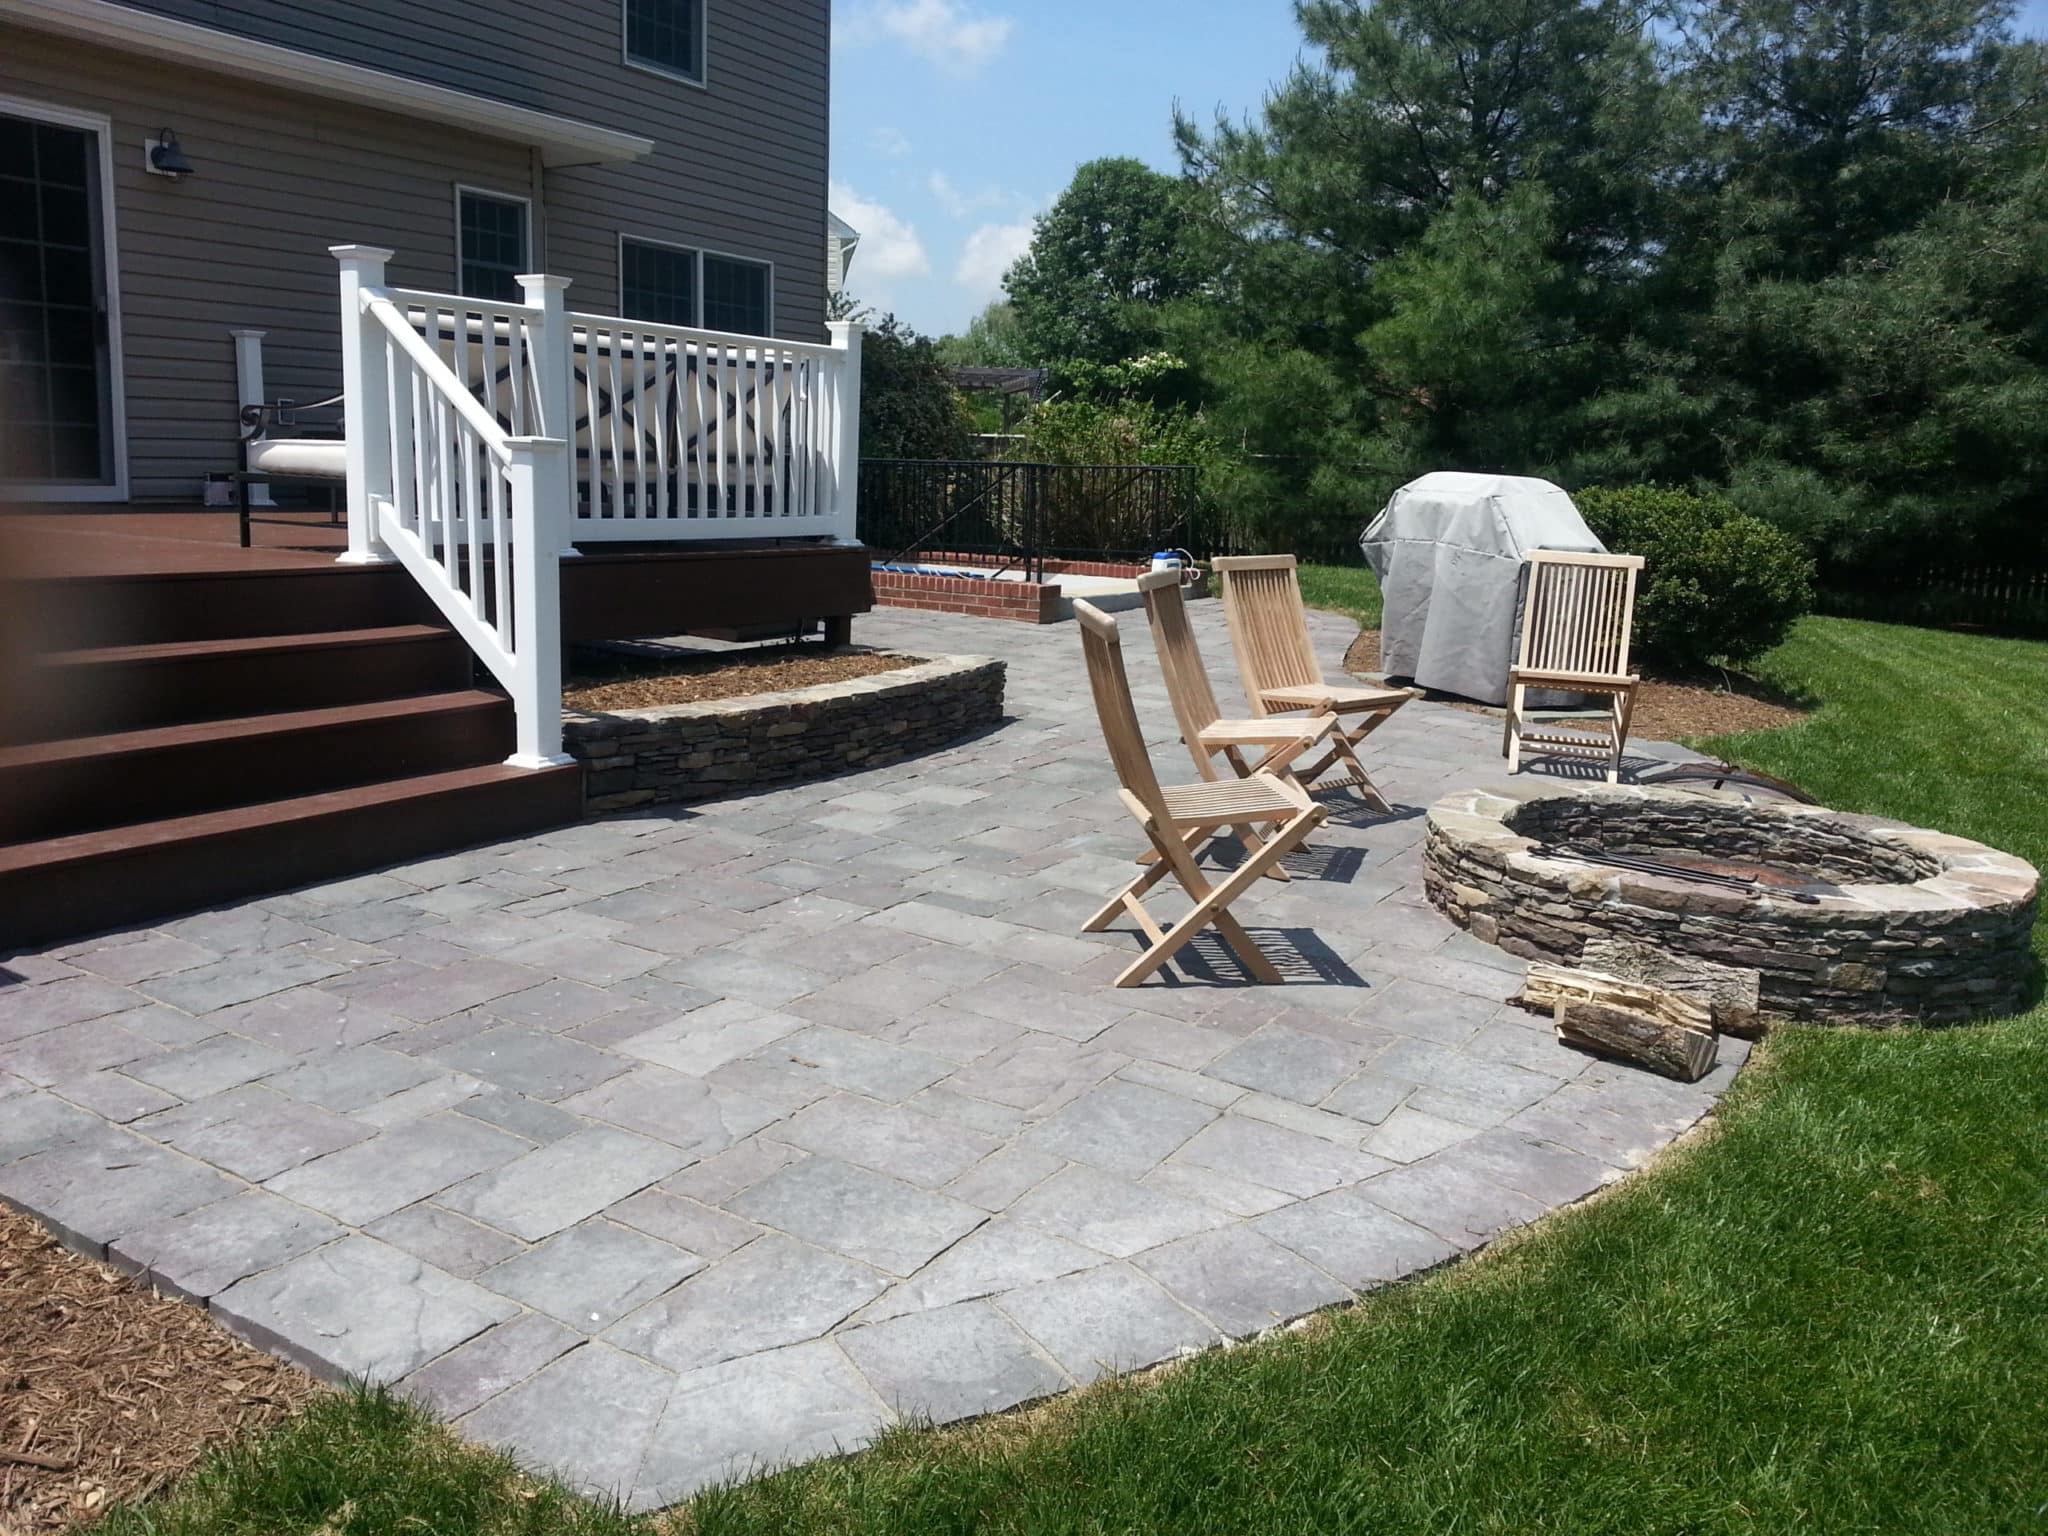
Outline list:
[[[0,950],[559,827],[582,768],[457,768],[0,848]]]

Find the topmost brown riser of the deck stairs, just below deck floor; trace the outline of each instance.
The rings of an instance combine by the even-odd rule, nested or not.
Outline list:
[[[8,600],[53,651],[436,623],[399,565],[45,575],[12,582]]]

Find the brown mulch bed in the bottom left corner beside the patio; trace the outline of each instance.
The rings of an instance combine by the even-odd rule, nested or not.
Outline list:
[[[317,1391],[0,1206],[0,1534],[90,1524]]]

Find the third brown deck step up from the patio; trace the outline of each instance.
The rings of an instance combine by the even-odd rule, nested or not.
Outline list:
[[[469,688],[469,647],[436,625],[49,651],[29,668],[20,739],[139,731]]]

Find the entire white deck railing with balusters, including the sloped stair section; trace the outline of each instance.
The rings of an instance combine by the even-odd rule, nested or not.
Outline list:
[[[512,696],[518,752],[561,756],[561,569],[580,543],[854,543],[860,328],[831,344],[385,285],[336,246],[344,561],[395,559]]]

